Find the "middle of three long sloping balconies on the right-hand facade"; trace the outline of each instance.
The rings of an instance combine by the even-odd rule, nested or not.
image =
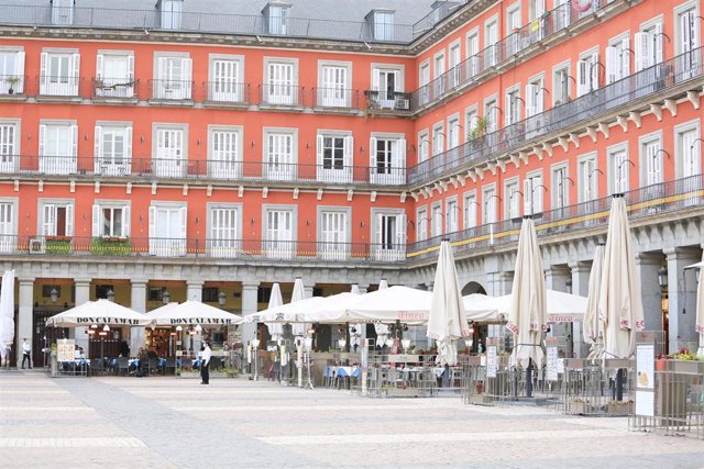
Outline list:
[[[632,103],[639,100],[647,100],[675,87],[685,86],[703,75],[704,48],[688,52],[436,155],[409,169],[408,183],[428,183],[486,163],[499,155],[530,147],[531,142],[564,133],[571,127],[583,127],[601,115],[613,114],[620,108],[632,107]]]

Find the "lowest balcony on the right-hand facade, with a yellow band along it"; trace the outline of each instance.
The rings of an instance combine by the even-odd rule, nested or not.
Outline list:
[[[624,194],[628,217],[632,221],[679,210],[704,210],[704,175],[642,187]],[[570,234],[580,230],[606,231],[612,198],[604,197],[588,202],[553,209],[532,215],[539,237]],[[436,259],[437,247],[442,239],[450,239],[458,254],[469,254],[479,248],[510,245],[518,241],[520,219],[504,220],[473,228],[448,233],[408,246],[408,260]]]

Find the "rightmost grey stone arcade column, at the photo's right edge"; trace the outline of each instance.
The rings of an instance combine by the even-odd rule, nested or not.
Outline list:
[[[698,337],[694,333],[696,323],[696,272],[684,270],[685,266],[698,263],[697,248],[675,247],[664,249],[668,263],[668,303],[670,353],[680,347],[695,349]]]

